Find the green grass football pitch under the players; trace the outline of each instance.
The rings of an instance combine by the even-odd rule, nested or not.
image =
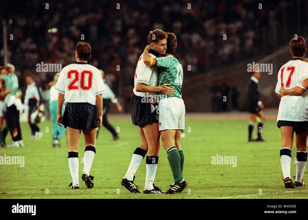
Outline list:
[[[110,120],[118,127],[120,139],[112,141],[103,127],[96,142],[96,154],[90,174],[95,176],[94,188],[87,189],[81,181],[84,141],[79,147],[80,189],[69,190],[66,136],[61,148],[52,148],[51,121],[41,122],[44,135],[30,140],[28,123],[22,123],[22,148],[0,148],[0,156],[24,156],[25,165],[0,165],[0,198],[307,198],[308,186],[285,189],[282,181],[279,150],[280,130],[277,122],[268,120],[262,135],[266,142],[247,142],[247,120],[186,120],[184,149],[184,179],[188,187],[182,193],[133,194],[120,185],[132,153],[140,144],[137,127],[131,120]],[[45,132],[47,127],[49,132]],[[188,132],[190,128],[191,132]],[[253,134],[256,135],[256,128]],[[8,134],[6,142],[10,143]],[[213,165],[212,156],[236,156],[237,166]],[[295,175],[296,147],[292,149],[291,176]],[[143,191],[145,159],[136,172],[135,183]],[[307,171],[304,174],[308,181]],[[294,180],[293,180],[294,181]],[[167,155],[161,146],[155,183],[163,190],[173,182]],[[262,193],[262,194],[260,194]]]

